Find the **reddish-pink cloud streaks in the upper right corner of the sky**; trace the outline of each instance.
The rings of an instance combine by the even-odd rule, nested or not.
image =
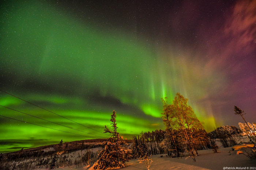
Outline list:
[[[235,52],[249,53],[255,50],[256,1],[239,1],[223,28],[225,37],[230,37],[229,47]]]

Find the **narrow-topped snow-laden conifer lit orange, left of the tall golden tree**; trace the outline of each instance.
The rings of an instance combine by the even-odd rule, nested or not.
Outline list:
[[[112,137],[106,142],[96,144],[97,146],[104,147],[104,149],[99,152],[98,160],[93,167],[94,169],[122,168],[127,166],[125,162],[128,162],[132,157],[131,150],[122,147],[127,145],[127,143],[117,132],[115,111],[112,112],[110,121],[112,122],[112,130],[105,126],[104,133],[109,133]]]

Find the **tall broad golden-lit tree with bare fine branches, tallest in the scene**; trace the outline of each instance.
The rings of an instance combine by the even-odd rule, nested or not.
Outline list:
[[[171,141],[174,146],[177,146],[173,131],[177,130],[179,142],[187,145],[187,151],[190,156],[196,161],[197,145],[206,139],[206,133],[202,123],[197,119],[191,106],[187,104],[188,99],[184,98],[180,93],[176,93],[172,105],[166,103],[166,98],[163,100],[162,119],[167,131],[170,132]]]

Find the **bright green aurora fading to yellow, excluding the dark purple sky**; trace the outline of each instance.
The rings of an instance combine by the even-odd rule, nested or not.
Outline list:
[[[131,32],[102,29],[100,22],[81,21],[50,3],[5,2],[1,11],[1,90],[91,129],[0,92],[0,105],[72,129],[5,107],[1,115],[74,133],[0,117],[0,153],[61,139],[107,138],[100,132],[110,126],[113,110],[124,138],[164,129],[161,98],[171,103],[176,92],[188,98],[207,131],[217,126],[211,104],[196,99],[214,94],[226,80],[216,70],[204,72],[204,63],[191,64]]]

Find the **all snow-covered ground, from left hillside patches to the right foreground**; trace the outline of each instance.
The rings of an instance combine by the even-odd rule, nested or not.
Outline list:
[[[236,135],[235,139],[238,144],[248,142],[248,137],[244,137],[242,135]],[[193,161],[192,158],[169,158],[166,157],[166,154],[163,154],[163,157],[161,155],[153,155],[151,156],[153,162],[151,163],[150,170],[167,170],[167,169],[184,169],[184,170],[190,170],[190,169],[211,169],[211,170],[221,170],[223,167],[227,167],[226,169],[248,169],[255,170],[256,169],[256,159],[250,160],[248,157],[246,157],[244,154],[237,154],[238,151],[231,151],[231,147],[223,148],[221,145],[221,142],[219,139],[215,139],[216,144],[220,147],[218,149],[219,153],[214,153],[211,149],[209,150],[199,150],[198,153],[200,154],[198,157],[196,157],[196,162]],[[98,153],[102,148],[94,148],[90,149],[93,153]],[[50,147],[48,149],[45,149],[45,151],[52,151],[54,150],[53,147]],[[242,148],[241,149],[244,153],[245,151],[251,151],[252,149],[249,148]],[[68,159],[70,159],[73,163],[71,166],[67,166],[67,162],[63,167],[56,168],[58,170],[60,169],[78,169],[78,170],[93,170],[93,166],[85,166],[79,167],[74,165],[75,160],[80,160],[80,156],[84,155],[86,153],[86,150],[83,151],[74,151],[69,154],[63,154],[59,155],[59,159],[68,156]],[[95,157],[96,158],[96,157]],[[35,158],[34,158],[35,159]],[[34,160],[33,159],[33,160]],[[42,158],[40,158],[42,159]],[[52,156],[50,156],[48,159],[50,161],[52,160]],[[30,159],[22,159],[20,162],[31,162],[30,164],[34,166],[34,169],[39,169],[38,166],[35,166],[36,162],[33,162],[33,160]],[[36,160],[34,160],[36,161]],[[50,163],[49,161],[49,163]],[[95,162],[96,160],[92,160],[91,163]],[[37,161],[38,162],[38,161]],[[57,161],[58,162],[58,161]],[[13,161],[11,164],[17,163]],[[139,163],[138,159],[132,159],[128,163],[128,166],[123,168],[123,170],[147,170],[146,165],[144,161],[142,163]],[[18,165],[18,164],[17,164]],[[82,165],[80,165],[82,166]],[[42,166],[41,166],[42,167]],[[46,166],[47,167],[47,166]],[[49,166],[48,166],[49,167]],[[250,168],[251,167],[251,168]],[[45,168],[44,168],[45,169]],[[43,170],[43,169],[41,169]]]

